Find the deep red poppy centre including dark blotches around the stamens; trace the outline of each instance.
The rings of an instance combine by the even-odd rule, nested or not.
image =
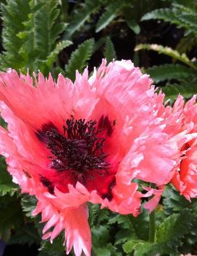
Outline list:
[[[116,163],[109,162],[105,150],[110,149],[108,139],[115,125],[116,120],[111,122],[104,115],[98,121],[71,116],[65,121],[63,133],[50,122],[35,132],[39,141],[52,153],[49,168],[56,170],[40,174],[40,181],[49,193],[53,194],[55,187],[68,193],[69,184],[75,186],[80,182],[89,192],[97,190],[102,198],[113,198]]]

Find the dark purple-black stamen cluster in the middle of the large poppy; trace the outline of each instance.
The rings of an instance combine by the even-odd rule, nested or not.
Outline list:
[[[102,129],[97,128],[97,122],[72,117],[65,123],[63,135],[56,128],[47,131],[47,148],[53,155],[50,167],[57,171],[73,170],[83,178],[90,175],[89,171],[107,173],[110,164],[103,151],[105,139],[100,137]]]

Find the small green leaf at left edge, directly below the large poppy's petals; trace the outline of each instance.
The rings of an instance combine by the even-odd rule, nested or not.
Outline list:
[[[0,157],[0,196],[9,194],[14,195],[18,190],[18,186],[12,182],[12,176],[7,171],[7,165],[2,157]]]

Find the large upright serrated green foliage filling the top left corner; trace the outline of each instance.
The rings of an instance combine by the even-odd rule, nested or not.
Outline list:
[[[2,5],[5,51],[1,55],[1,69],[12,66],[24,72],[28,68],[48,74],[60,51],[71,44],[57,42],[65,30],[65,23],[57,23],[60,14],[57,4],[57,0],[41,0],[38,4],[20,0]]]

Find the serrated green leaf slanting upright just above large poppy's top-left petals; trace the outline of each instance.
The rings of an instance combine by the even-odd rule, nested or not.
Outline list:
[[[87,66],[87,61],[92,55],[94,46],[94,39],[88,39],[83,44],[71,54],[71,58],[68,61],[68,65],[65,66],[65,72],[68,77],[72,80],[75,78],[76,69],[81,72],[85,66]]]

